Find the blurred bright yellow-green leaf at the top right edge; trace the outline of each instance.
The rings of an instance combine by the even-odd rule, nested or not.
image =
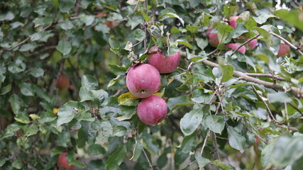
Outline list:
[[[300,11],[299,9],[292,9],[290,11],[287,9],[280,9],[275,11],[275,15],[287,23],[291,23],[294,27],[299,28],[299,30],[303,30],[303,11]]]

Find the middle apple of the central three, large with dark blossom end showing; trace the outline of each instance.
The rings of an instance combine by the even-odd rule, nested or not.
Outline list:
[[[126,86],[133,96],[148,98],[160,86],[160,73],[150,64],[138,64],[128,70]]]

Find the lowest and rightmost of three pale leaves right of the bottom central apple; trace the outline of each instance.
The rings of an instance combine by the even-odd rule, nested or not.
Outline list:
[[[229,145],[235,149],[238,149],[241,153],[244,152],[246,138],[238,134],[238,132],[231,126],[228,126],[227,132]]]

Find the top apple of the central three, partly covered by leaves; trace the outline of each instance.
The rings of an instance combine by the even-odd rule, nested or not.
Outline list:
[[[180,52],[167,57],[163,52],[155,52],[148,57],[148,64],[158,69],[160,74],[174,72],[180,64]]]

